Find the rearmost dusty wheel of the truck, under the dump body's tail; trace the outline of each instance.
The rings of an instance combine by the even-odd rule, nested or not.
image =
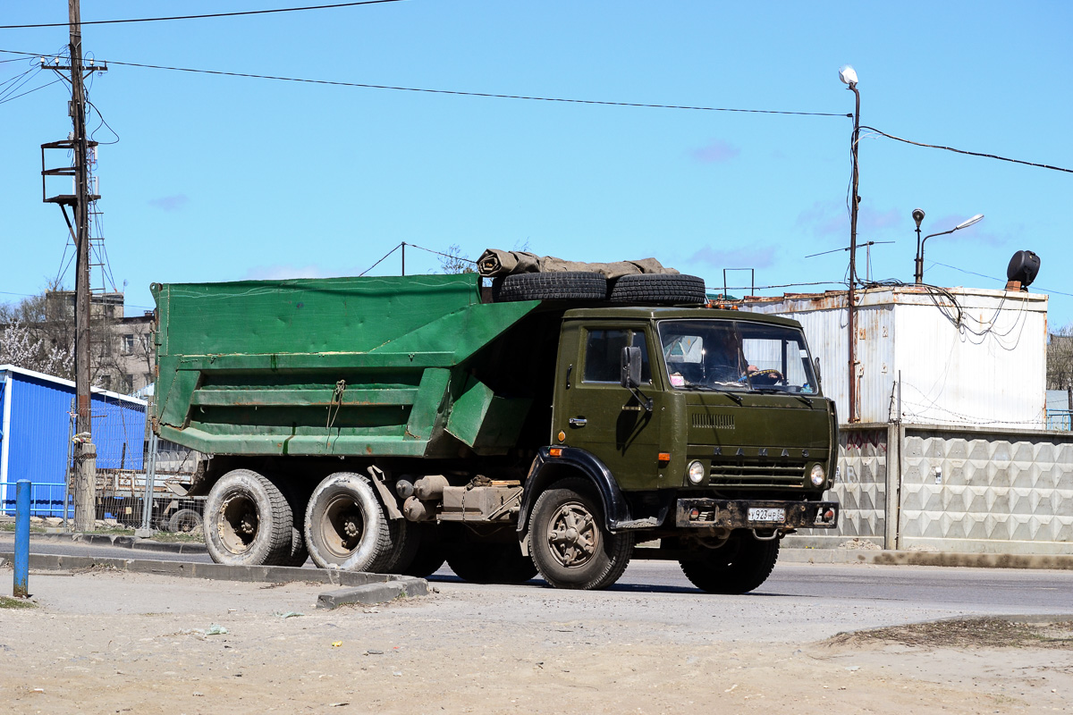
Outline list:
[[[205,500],[205,546],[218,564],[282,564],[291,553],[293,526],[282,492],[250,470],[223,475]]]

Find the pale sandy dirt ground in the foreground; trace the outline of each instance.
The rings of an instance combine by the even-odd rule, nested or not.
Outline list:
[[[725,632],[748,597],[439,583],[323,611],[311,583],[91,571],[30,584],[36,608],[0,608],[6,712],[1073,712],[1071,623],[805,642]]]

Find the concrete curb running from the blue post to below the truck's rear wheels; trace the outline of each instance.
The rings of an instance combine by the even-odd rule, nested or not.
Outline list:
[[[14,561],[14,554],[0,552],[0,564]],[[201,564],[188,561],[149,561],[145,558],[103,558],[99,556],[67,556],[60,554],[30,554],[30,568],[42,571],[119,570],[130,574],[151,574],[175,576],[210,581],[240,581],[245,583],[292,583],[314,581],[333,586],[350,589],[328,591],[318,596],[318,604],[325,596],[363,587],[367,600],[340,601],[381,604],[399,597],[425,596],[428,581],[412,576],[395,574],[366,574],[364,571],[340,571],[324,568],[299,568],[295,566],[227,566],[224,564]],[[379,589],[369,587],[379,586]],[[382,596],[382,597],[381,597]],[[376,598],[376,599],[374,599]],[[330,600],[330,598],[329,598]]]

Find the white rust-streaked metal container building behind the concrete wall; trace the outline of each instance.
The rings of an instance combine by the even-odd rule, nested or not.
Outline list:
[[[924,285],[873,287],[856,295],[862,422],[1045,427],[1047,296]],[[802,323],[820,360],[823,392],[836,401],[846,422],[847,292],[746,298],[741,308]]]

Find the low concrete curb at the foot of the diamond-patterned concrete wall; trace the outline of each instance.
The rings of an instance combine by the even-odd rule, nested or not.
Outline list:
[[[880,549],[782,549],[779,562],[790,564],[874,564],[877,566],[968,566],[1073,570],[1064,554],[953,553],[884,551]]]

